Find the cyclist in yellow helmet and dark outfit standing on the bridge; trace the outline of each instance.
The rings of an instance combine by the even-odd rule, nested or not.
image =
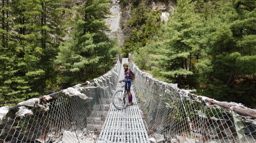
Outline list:
[[[128,79],[130,79],[131,77],[131,72],[129,70],[129,63],[124,62],[123,67],[125,70],[125,79],[121,81],[125,82],[125,90],[127,91],[127,94],[128,94],[128,106],[130,106],[130,105],[133,105],[133,102],[132,102],[132,95],[131,95],[131,81],[128,81]],[[119,81],[119,83],[121,81]]]

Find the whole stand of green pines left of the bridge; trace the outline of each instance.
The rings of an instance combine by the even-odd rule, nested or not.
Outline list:
[[[117,49],[105,34],[109,7],[108,0],[1,0],[0,106],[110,70]]]

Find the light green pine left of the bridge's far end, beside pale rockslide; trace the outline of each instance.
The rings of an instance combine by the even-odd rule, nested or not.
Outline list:
[[[94,79],[113,65],[117,51],[115,42],[105,34],[108,27],[104,21],[109,4],[108,0],[85,0],[76,8],[72,39],[60,47],[56,60],[65,67],[63,82],[67,85]]]

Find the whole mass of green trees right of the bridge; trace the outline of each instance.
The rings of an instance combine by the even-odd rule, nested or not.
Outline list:
[[[250,106],[254,99],[239,99],[251,98],[256,91],[255,8],[253,0],[178,0],[150,42],[129,46],[136,50],[136,64],[157,79]],[[133,37],[141,34],[138,31]]]

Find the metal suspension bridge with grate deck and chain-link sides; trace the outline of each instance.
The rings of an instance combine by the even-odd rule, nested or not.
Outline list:
[[[0,143],[256,143],[254,109],[158,81],[132,60],[134,105],[116,109],[122,62],[83,84],[1,107]]]

